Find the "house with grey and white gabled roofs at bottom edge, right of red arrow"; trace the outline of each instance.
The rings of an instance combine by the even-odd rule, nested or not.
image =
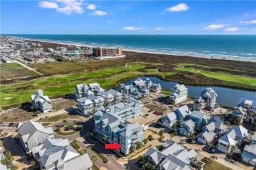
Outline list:
[[[157,169],[175,170],[190,169],[191,158],[197,154],[192,149],[167,140],[163,143],[163,150],[150,147],[143,155],[150,163],[157,166]]]

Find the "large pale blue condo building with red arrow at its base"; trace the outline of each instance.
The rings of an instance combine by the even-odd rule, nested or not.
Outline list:
[[[125,124],[125,120],[117,114],[105,112],[95,115],[95,132],[100,136],[108,136],[108,143],[119,143],[121,152],[129,153],[129,148],[137,141],[143,140],[143,127],[138,122]]]

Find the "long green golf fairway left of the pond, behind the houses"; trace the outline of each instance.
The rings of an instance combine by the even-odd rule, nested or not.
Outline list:
[[[56,95],[74,93],[75,85],[84,82],[87,84],[91,82],[98,82],[100,83],[100,86],[102,86],[102,88],[108,88],[109,86],[116,84],[118,80],[121,80],[123,78],[143,75],[144,73],[135,72],[135,70],[141,69],[143,67],[144,65],[135,64],[129,65],[128,67],[114,67],[88,73],[51,76],[47,78],[33,80],[31,82],[25,82],[22,84],[2,86],[0,93],[1,106],[21,104],[26,101],[30,101],[30,95],[32,95],[32,93],[38,89],[42,89],[45,95],[52,97]],[[129,72],[121,73],[122,71],[127,70]],[[110,77],[96,78],[100,76]],[[89,78],[89,80],[81,80],[81,78]]]

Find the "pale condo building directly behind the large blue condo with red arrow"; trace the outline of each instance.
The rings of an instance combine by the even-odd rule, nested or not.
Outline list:
[[[106,112],[111,114],[117,114],[121,118],[129,119],[136,118],[141,115],[142,102],[129,97],[124,102],[110,105],[106,108]]]

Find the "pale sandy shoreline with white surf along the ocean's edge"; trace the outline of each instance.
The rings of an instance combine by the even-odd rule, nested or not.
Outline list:
[[[8,36],[12,37],[12,36]],[[53,43],[53,44],[63,44],[63,45],[69,45],[69,46],[83,46],[83,47],[98,47],[98,46],[93,46],[89,44],[81,44],[77,43],[69,43],[69,42],[58,42],[58,41],[46,41],[46,40],[38,40],[38,39],[27,39],[27,38],[21,38],[21,37],[15,37],[16,39],[21,39],[21,40],[26,40],[26,41],[35,41],[35,42],[47,42],[47,43]],[[165,53],[165,52],[154,52],[154,51],[146,51],[146,50],[133,50],[133,49],[127,49],[127,48],[122,48],[123,52],[137,52],[137,53],[146,53],[146,54],[160,54],[160,55],[166,55],[166,56],[177,56],[177,57],[188,57],[188,58],[203,58],[203,59],[221,59],[223,61],[241,61],[241,62],[250,62],[250,63],[256,63],[256,60],[245,60],[245,59],[234,59],[234,58],[213,58],[211,56],[188,56],[188,55],[182,55],[182,54],[171,54],[171,53]]]

